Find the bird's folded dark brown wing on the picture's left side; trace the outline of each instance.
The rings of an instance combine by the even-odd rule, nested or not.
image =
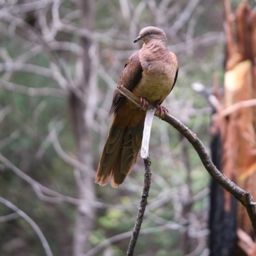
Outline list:
[[[140,63],[139,52],[140,51],[134,52],[134,54],[132,54],[132,56],[127,60],[124,70],[118,80],[118,85],[123,85],[129,91],[132,91],[142,76],[143,69]],[[109,117],[116,112],[124,99],[125,96],[118,92],[118,90],[115,90],[112,106],[109,111]]]

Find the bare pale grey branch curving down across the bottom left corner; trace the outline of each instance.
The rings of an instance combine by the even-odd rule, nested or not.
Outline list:
[[[44,234],[42,233],[38,225],[36,225],[35,221],[33,221],[24,211],[21,211],[17,206],[13,205],[11,202],[4,199],[3,197],[0,197],[0,203],[6,205],[8,208],[12,209],[17,214],[19,214],[20,217],[24,218],[24,220],[28,221],[29,225],[31,225],[31,227],[33,228],[33,230],[35,230],[37,236],[39,237],[42,246],[44,247],[46,255],[52,256],[51,248],[47,243]]]

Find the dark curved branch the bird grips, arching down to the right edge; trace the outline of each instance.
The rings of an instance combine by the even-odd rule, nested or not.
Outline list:
[[[117,86],[117,89],[119,90],[119,92],[121,92],[123,95],[125,95],[125,97],[127,97],[134,104],[136,104],[136,106],[139,106],[141,108],[140,99],[136,95],[134,95],[129,90],[124,88],[124,86]],[[147,108],[145,107],[145,108],[143,108],[143,110],[146,111]],[[158,109],[157,109],[155,115],[160,117]],[[166,113],[166,112],[163,113],[163,115],[161,116],[161,119],[163,121],[167,122],[168,124],[172,125],[184,137],[187,138],[187,140],[195,148],[198,156],[200,157],[202,163],[205,166],[205,169],[207,170],[207,172],[209,172],[209,174],[212,176],[212,178],[214,180],[216,180],[216,182],[218,184],[220,184],[220,186],[222,188],[226,189],[229,193],[231,193],[233,196],[235,196],[237,198],[237,200],[239,200],[239,202],[241,202],[241,204],[244,205],[244,207],[246,207],[246,211],[248,212],[249,218],[252,222],[253,232],[256,236],[256,204],[255,204],[255,202],[253,202],[252,195],[250,195],[249,192],[244,191],[243,189],[239,188],[239,186],[234,184],[234,182],[232,182],[231,180],[227,179],[227,177],[225,177],[225,175],[223,175],[216,168],[216,166],[214,166],[214,164],[211,161],[211,157],[209,157],[209,155],[207,154],[202,141],[200,141],[198,139],[198,137],[196,136],[196,134],[191,132],[188,129],[188,127],[186,127],[186,125],[182,124],[182,122],[180,122],[180,120],[178,120],[177,118],[173,117],[172,115],[170,115],[169,113]]]

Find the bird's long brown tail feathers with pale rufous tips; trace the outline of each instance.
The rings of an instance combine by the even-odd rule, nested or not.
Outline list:
[[[100,157],[95,182],[104,186],[111,179],[111,186],[118,188],[132,171],[140,152],[144,120],[132,129],[118,129],[111,125],[106,145]]]

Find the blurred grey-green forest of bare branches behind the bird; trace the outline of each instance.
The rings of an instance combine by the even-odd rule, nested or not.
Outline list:
[[[140,29],[163,29],[179,61],[163,104],[208,148],[212,108],[191,84],[209,91],[214,79],[223,84],[223,1],[0,5],[0,255],[126,255],[143,162],[118,189],[94,184],[116,82],[141,47],[133,44]],[[195,150],[156,118],[150,156],[152,186],[135,254],[208,255],[209,175]]]

